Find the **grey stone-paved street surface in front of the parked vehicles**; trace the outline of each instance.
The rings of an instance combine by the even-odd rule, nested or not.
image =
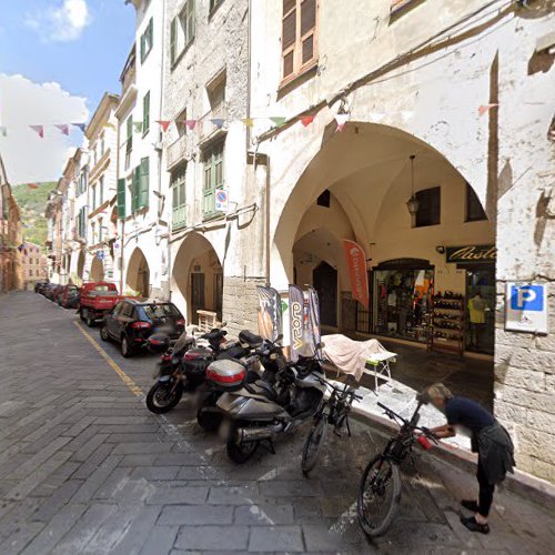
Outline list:
[[[72,311],[32,293],[0,297],[0,315],[2,555],[553,553],[553,512],[506,492],[492,534],[467,533],[457,500],[474,478],[430,456],[407,466],[398,517],[371,543],[353,502],[383,437],[362,425],[351,440],[329,434],[311,480],[300,472],[303,430],[276,455],[235,466],[185,402],[154,416],[125,383],[145,391],[155,357],[93,345]]]

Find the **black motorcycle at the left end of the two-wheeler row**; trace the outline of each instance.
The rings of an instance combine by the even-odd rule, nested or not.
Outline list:
[[[222,324],[222,327],[225,323]],[[205,384],[205,371],[209,364],[216,359],[241,359],[250,353],[251,346],[241,342],[226,343],[228,332],[214,329],[209,333],[194,337],[183,333],[172,344],[163,334],[153,334],[148,340],[151,352],[162,353],[154,374],[157,382],[147,394],[147,407],[155,414],[171,411],[180,402],[183,393],[201,391]],[[200,341],[206,345],[200,345]],[[209,397],[215,392],[206,392]],[[220,421],[212,423],[210,418],[204,422],[209,428],[218,427]]]

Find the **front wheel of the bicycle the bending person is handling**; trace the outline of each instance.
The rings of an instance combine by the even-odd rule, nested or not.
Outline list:
[[[398,467],[383,455],[366,466],[359,488],[359,523],[367,536],[382,535],[397,513],[401,502]]]

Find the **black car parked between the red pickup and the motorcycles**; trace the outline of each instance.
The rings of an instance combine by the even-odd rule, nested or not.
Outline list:
[[[153,333],[178,339],[184,329],[185,319],[173,303],[124,299],[104,316],[100,336],[120,343],[121,354],[129,357],[147,347]]]

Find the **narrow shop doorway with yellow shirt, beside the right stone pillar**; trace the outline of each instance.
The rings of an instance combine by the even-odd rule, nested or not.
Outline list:
[[[495,266],[466,268],[465,346],[475,353],[494,353]]]

